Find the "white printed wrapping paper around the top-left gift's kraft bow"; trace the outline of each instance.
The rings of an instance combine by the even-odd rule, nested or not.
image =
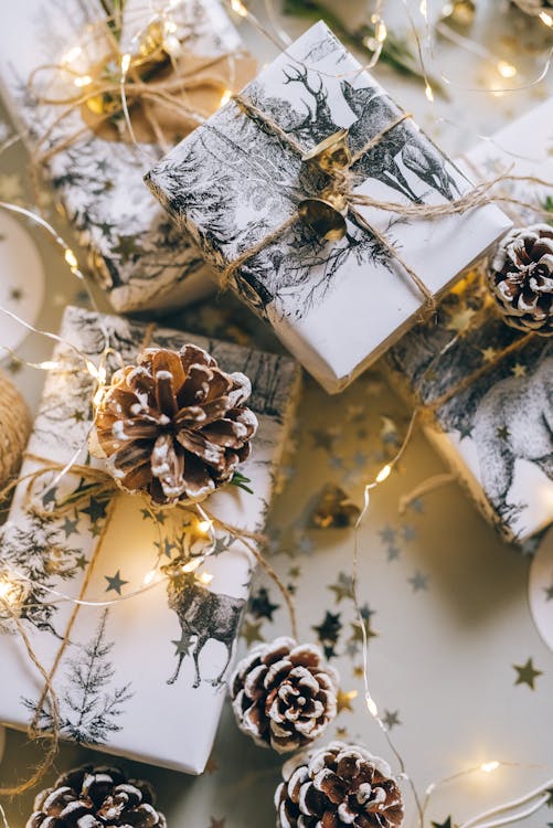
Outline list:
[[[74,55],[68,70],[82,75],[89,71],[91,63],[104,57],[105,47],[96,55],[98,44],[86,33],[86,24],[100,18],[100,3],[25,0],[4,6],[0,30],[2,95],[33,158],[79,131],[78,138],[50,159],[46,172],[113,307],[118,311],[173,307],[209,295],[213,289],[211,268],[143,187],[145,166],[148,159],[151,163],[152,158],[161,157],[159,146],[134,147],[128,141],[106,140],[86,128],[78,109],[65,115],[45,139],[53,121],[68,107],[40,103],[28,81],[38,66],[57,64],[67,55]],[[130,39],[140,31],[143,17],[150,18],[151,10],[141,0],[127,2],[125,8],[124,32]],[[199,55],[212,59],[241,47],[219,0],[191,0],[182,9],[188,22],[193,22],[193,49]],[[95,31],[99,31],[97,23]],[[57,97],[78,92],[72,75],[57,74],[56,83],[52,83],[52,72],[38,75],[35,86]],[[82,88],[85,94],[86,86]]]

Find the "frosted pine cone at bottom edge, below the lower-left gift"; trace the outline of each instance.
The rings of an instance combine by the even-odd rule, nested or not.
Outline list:
[[[78,767],[60,776],[34,800],[26,828],[166,828],[146,782],[116,767]]]

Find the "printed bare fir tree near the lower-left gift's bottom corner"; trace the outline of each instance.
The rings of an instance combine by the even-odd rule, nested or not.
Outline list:
[[[108,609],[102,614],[94,637],[78,648],[67,661],[66,686],[59,698],[60,733],[78,744],[105,744],[109,734],[121,730],[118,718],[123,705],[132,698],[131,682],[109,690],[116,675],[109,655],[113,641],[105,640]],[[24,705],[36,713],[36,702],[23,699]],[[53,718],[46,700],[38,721],[39,728],[52,730]]]

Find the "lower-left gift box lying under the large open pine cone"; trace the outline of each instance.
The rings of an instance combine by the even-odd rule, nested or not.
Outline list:
[[[191,558],[196,541],[184,554],[185,512],[156,512],[123,491],[106,499],[82,471],[60,473],[65,464],[88,463],[91,371],[100,371],[106,335],[114,368],[120,360],[130,364],[145,341],[170,349],[193,341],[223,370],[252,381],[247,404],[258,432],[240,466],[248,490],[227,485],[202,501],[216,534],[203,562]],[[4,530],[1,595],[3,602],[13,595],[30,645],[52,676],[62,737],[198,774],[215,735],[255,563],[249,534],[263,530],[299,371],[286,357],[77,308],[66,310],[61,339]],[[36,469],[44,474],[30,488]],[[86,506],[72,508],[83,492]],[[208,530],[199,523],[198,531]],[[170,577],[163,576],[168,566]],[[0,688],[0,721],[22,729],[35,720],[51,729],[44,678],[3,605],[0,631],[0,660],[10,676]]]

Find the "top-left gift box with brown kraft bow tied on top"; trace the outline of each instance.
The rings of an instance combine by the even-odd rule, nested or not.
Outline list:
[[[148,3],[125,3],[117,34],[121,53],[142,49],[137,36],[149,31],[151,15]],[[142,174],[177,135],[182,137],[217,108],[225,87],[240,88],[255,72],[219,0],[173,3],[164,15],[174,30],[168,35],[173,45],[180,38],[187,46],[179,64],[185,63],[183,76],[171,93],[179,107],[172,113],[169,103],[160,113],[150,96],[142,117],[127,86],[137,144],[117,109],[120,95],[114,84],[120,70],[117,60],[106,63],[115,35],[107,31],[99,0],[28,0],[10,3],[2,15],[2,94],[32,159],[44,159],[49,183],[88,252],[89,269],[118,311],[173,307],[213,289],[211,268],[187,234],[167,220]],[[111,84],[104,97],[89,92],[100,71],[100,79]],[[170,79],[163,75],[166,84]],[[148,83],[145,94],[159,88],[156,76]],[[84,103],[78,104],[79,97]],[[110,106],[118,116],[106,119]],[[157,131],[150,135],[155,127],[148,131],[145,125],[153,121]]]

